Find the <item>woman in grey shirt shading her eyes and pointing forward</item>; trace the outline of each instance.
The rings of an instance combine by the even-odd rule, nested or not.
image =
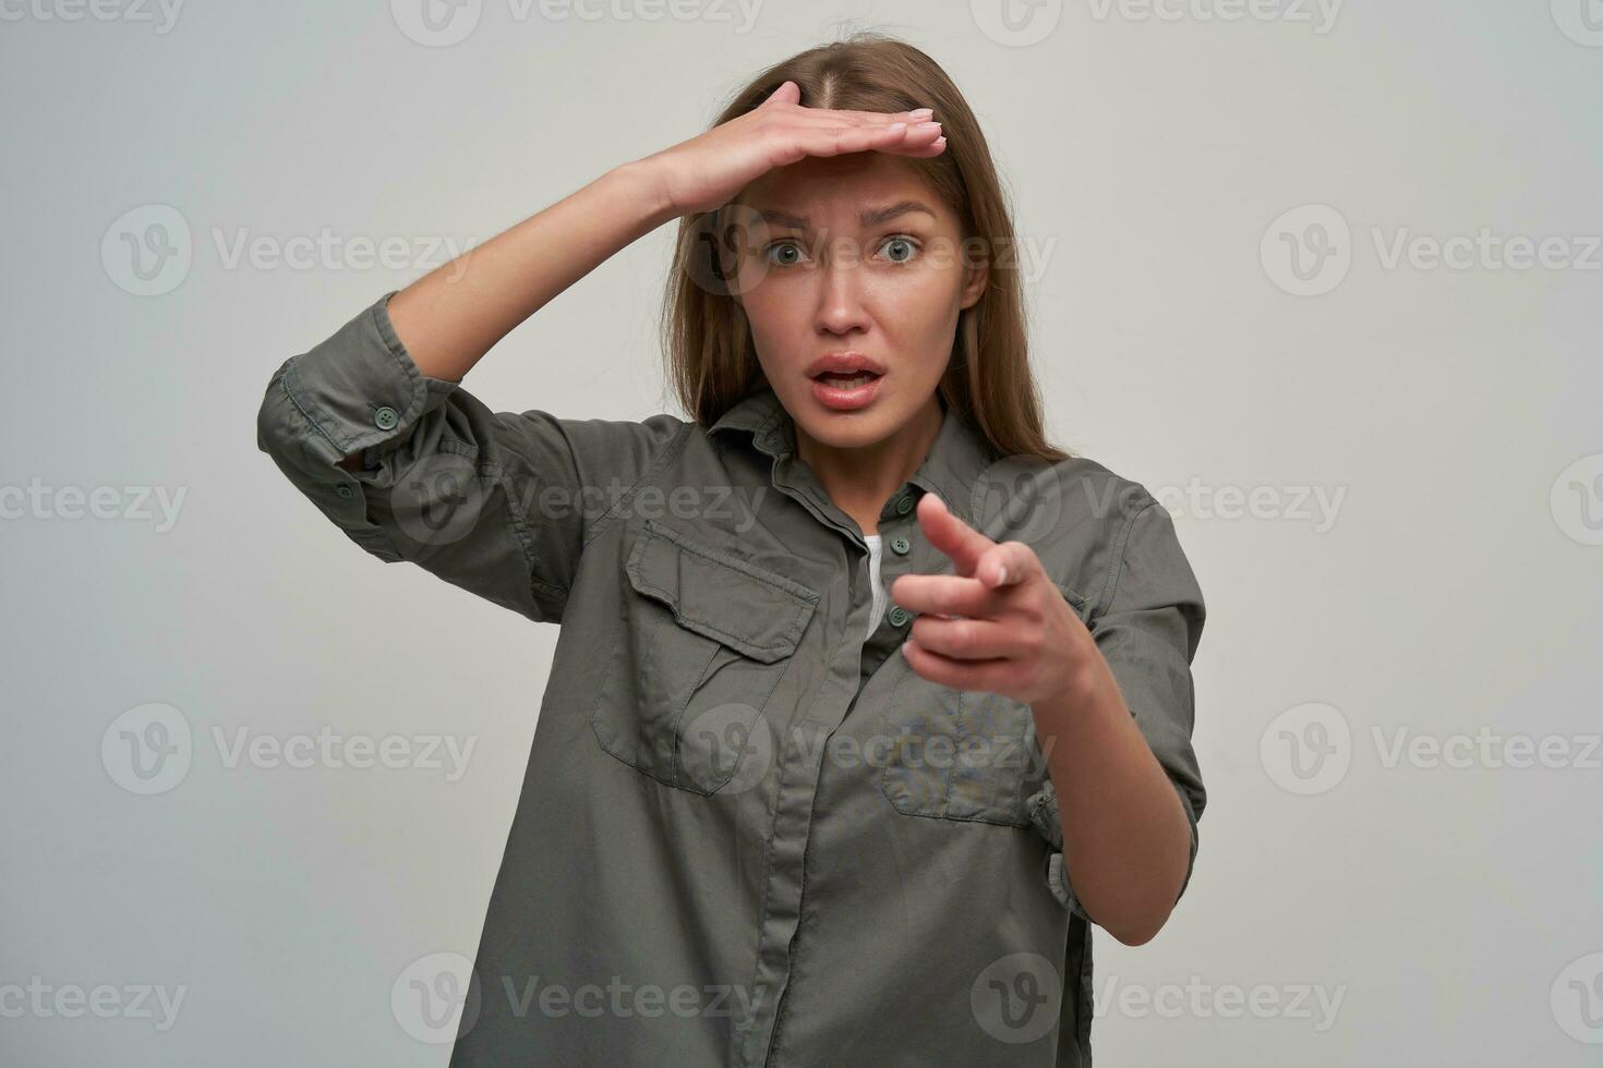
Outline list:
[[[458,384],[673,218],[691,420]],[[274,375],[357,544],[561,623],[452,1065],[1090,1063],[1090,924],[1196,857],[1204,605],[1044,440],[1011,247],[957,88],[862,34]]]

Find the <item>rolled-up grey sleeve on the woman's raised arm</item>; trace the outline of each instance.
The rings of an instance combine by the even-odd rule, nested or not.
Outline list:
[[[691,424],[491,412],[417,368],[390,322],[396,291],[273,373],[256,447],[380,560],[559,621],[583,546]]]

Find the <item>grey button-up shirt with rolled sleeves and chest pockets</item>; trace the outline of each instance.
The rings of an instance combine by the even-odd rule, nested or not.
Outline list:
[[[915,674],[899,605],[869,626],[862,533],[773,391],[710,428],[491,412],[417,370],[391,295],[277,368],[258,447],[369,554],[561,624],[454,1068],[1090,1065],[1095,919],[1031,709]],[[923,493],[1028,541],[1194,863],[1204,604],[1170,514],[943,408],[878,516],[885,586],[951,573]]]

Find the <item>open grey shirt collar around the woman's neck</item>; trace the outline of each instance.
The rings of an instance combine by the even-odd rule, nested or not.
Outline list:
[[[779,404],[771,384],[763,384],[737,400],[718,416],[707,432],[728,434],[729,431],[750,431],[752,445],[776,460],[795,455],[795,423],[785,407]],[[954,407],[946,405],[941,429],[909,482],[922,490],[938,493],[954,516],[975,527],[973,498],[979,488],[981,474],[994,461],[994,450],[984,436]]]

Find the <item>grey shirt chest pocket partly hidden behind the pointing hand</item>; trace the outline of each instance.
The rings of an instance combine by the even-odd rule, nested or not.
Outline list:
[[[1058,589],[1084,621],[1085,599]],[[882,711],[885,797],[907,815],[1031,826],[1028,799],[1047,781],[1047,756],[1029,705],[902,671]]]

